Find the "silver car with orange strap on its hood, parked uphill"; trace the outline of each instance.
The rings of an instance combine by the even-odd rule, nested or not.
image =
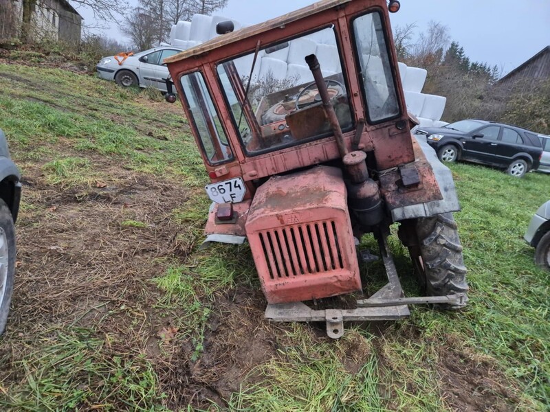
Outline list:
[[[182,49],[173,46],[155,47],[132,56],[109,56],[100,60],[96,69],[100,78],[114,80],[122,87],[156,87],[166,91],[168,68],[162,62]],[[117,60],[118,58],[118,60]],[[119,64],[120,61],[120,64]]]

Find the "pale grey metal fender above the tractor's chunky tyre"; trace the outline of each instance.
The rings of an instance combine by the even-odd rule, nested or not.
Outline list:
[[[419,137],[419,139],[417,139]],[[456,194],[456,187],[452,179],[452,172],[438,159],[435,150],[422,139],[421,136],[412,136],[416,139],[426,161],[430,163],[434,172],[437,185],[441,191],[442,200],[430,201],[426,203],[418,203],[416,205],[408,205],[392,209],[391,214],[394,222],[406,219],[428,218],[437,214],[448,213],[452,211],[460,211],[459,197]]]

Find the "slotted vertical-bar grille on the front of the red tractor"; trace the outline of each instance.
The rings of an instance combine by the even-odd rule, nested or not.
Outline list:
[[[332,220],[259,231],[271,279],[326,273],[344,268]]]

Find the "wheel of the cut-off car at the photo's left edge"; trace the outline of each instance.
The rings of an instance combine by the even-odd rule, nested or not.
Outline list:
[[[12,213],[0,199],[0,335],[10,312],[15,271],[15,229]]]

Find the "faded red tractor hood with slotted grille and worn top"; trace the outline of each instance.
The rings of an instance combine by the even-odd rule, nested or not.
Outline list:
[[[360,290],[342,172],[320,166],[259,187],[245,229],[270,304]]]

